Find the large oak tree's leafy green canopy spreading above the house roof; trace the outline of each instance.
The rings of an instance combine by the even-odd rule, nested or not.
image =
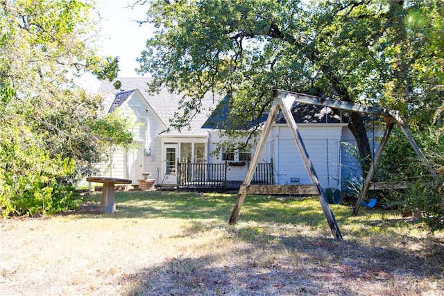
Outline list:
[[[386,82],[398,87],[402,77],[390,64],[398,50],[386,49],[401,39],[404,13],[395,2],[151,1],[146,21],[157,32],[139,71],[155,78],[153,90],[166,85],[185,94],[189,116],[205,92],[228,94],[231,127],[246,118],[258,127],[274,87],[393,107],[398,90],[386,99]],[[370,148],[362,117],[349,118],[364,157]]]

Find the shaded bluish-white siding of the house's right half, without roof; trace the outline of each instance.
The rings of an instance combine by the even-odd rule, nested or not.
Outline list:
[[[302,141],[304,141],[309,158],[323,188],[341,189],[339,180],[341,180],[342,126],[343,124],[330,124],[328,127],[320,124],[298,125]],[[212,153],[216,143],[222,140],[219,132],[211,132],[209,153]],[[293,184],[291,178],[299,178],[299,184],[311,184],[293,135],[287,125],[275,125],[268,134],[268,139],[259,157],[259,163],[271,162],[271,159],[273,159],[276,184]],[[210,156],[209,162],[221,163],[220,153]],[[227,179],[228,181],[243,181],[246,171],[247,166],[229,166]]]

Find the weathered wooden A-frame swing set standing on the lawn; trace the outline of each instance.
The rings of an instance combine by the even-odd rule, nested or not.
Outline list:
[[[250,166],[248,167],[248,171],[246,173],[244,182],[242,183],[239,189],[239,195],[237,198],[237,202],[234,205],[234,209],[232,211],[230,217],[230,224],[234,224],[237,221],[237,216],[239,216],[239,212],[241,211],[242,204],[244,204],[244,200],[247,194],[297,194],[297,195],[317,195],[318,200],[321,203],[323,208],[325,218],[327,219],[328,225],[332,231],[334,239],[336,241],[343,241],[341,231],[339,230],[339,226],[336,223],[336,219],[332,213],[332,209],[330,209],[330,205],[327,202],[327,197],[325,196],[325,192],[321,186],[321,183],[318,180],[318,176],[316,175],[316,171],[314,170],[314,166],[311,163],[307,150],[305,149],[304,142],[302,141],[302,137],[300,136],[298,125],[296,125],[296,121],[291,114],[291,105],[294,102],[305,103],[309,105],[318,105],[324,107],[331,107],[336,110],[345,110],[350,112],[361,112],[365,114],[375,114],[379,116],[384,116],[386,121],[386,131],[384,132],[384,137],[382,138],[381,143],[375,153],[375,157],[370,166],[370,169],[366,175],[366,179],[364,181],[364,186],[359,194],[358,200],[355,204],[355,208],[353,209],[353,215],[357,215],[359,211],[359,207],[361,205],[361,200],[366,195],[368,187],[370,186],[370,180],[373,178],[373,174],[375,173],[375,168],[379,157],[382,155],[382,150],[387,142],[388,136],[393,129],[395,124],[402,130],[402,133],[409,140],[410,145],[412,146],[415,153],[421,159],[424,158],[424,154],[420,150],[416,141],[411,137],[409,131],[407,130],[406,125],[400,118],[398,112],[393,110],[386,110],[380,107],[371,107],[366,105],[360,105],[356,103],[350,103],[339,100],[332,100],[328,98],[320,98],[318,96],[309,96],[307,94],[298,94],[294,92],[284,91],[282,89],[273,89],[273,105],[271,105],[270,112],[264,124],[264,128],[262,130],[262,134],[259,137],[259,141],[257,143],[257,148],[255,149],[255,153],[251,159]],[[268,134],[273,126],[273,122],[275,121],[275,117],[278,114],[278,111],[282,110],[282,114],[284,115],[287,124],[293,134],[293,139],[296,143],[296,148],[300,153],[300,157],[305,166],[305,169],[309,175],[311,180],[311,185],[251,185],[251,180],[253,180],[253,175],[255,173],[255,168],[257,166],[257,162],[259,161],[259,155],[264,147]],[[427,164],[426,164],[427,165]],[[427,165],[428,166],[428,165]],[[436,176],[436,172],[431,166],[428,166],[429,172]]]

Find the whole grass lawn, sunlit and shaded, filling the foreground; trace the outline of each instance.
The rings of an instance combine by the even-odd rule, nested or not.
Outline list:
[[[443,295],[444,234],[400,213],[316,198],[99,194],[50,218],[0,220],[0,295]]]

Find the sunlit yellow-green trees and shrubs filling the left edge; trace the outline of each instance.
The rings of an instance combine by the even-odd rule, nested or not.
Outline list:
[[[108,80],[119,71],[118,58],[96,55],[93,11],[89,0],[0,3],[3,217],[75,207],[71,184],[103,155],[94,137],[101,98],[74,83],[87,71]]]

